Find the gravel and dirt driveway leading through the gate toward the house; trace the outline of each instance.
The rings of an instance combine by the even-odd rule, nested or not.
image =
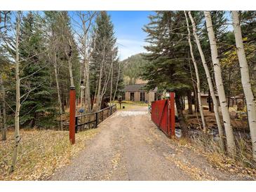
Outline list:
[[[151,121],[147,107],[117,111],[99,125],[70,165],[49,180],[252,180],[215,169],[194,151],[178,146]]]

